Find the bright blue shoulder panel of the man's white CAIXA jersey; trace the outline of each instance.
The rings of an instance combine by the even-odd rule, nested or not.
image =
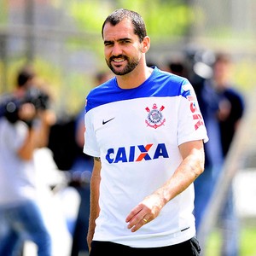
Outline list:
[[[117,84],[117,80],[108,80],[104,84],[90,90],[87,96],[85,110],[90,111],[92,108],[99,107],[110,102],[118,102],[131,100],[142,97],[166,97],[166,96],[188,96],[189,91],[184,90],[189,84],[187,79],[161,71],[154,67],[151,76],[139,87],[134,89],[121,89]],[[185,86],[183,86],[185,85]]]

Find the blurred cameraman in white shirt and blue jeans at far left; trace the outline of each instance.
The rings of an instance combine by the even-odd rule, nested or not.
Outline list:
[[[20,255],[33,241],[38,256],[50,256],[52,241],[38,205],[34,150],[48,143],[55,113],[49,95],[34,84],[32,67],[17,76],[12,93],[1,97],[0,117],[0,255]]]

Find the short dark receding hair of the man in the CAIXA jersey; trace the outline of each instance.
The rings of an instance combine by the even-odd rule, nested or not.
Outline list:
[[[111,25],[115,26],[125,18],[131,20],[131,23],[134,26],[134,33],[138,36],[140,42],[142,42],[143,39],[147,36],[145,22],[141,15],[129,9],[116,9],[113,11],[112,14],[108,15],[107,19],[104,21],[102,25],[102,38],[103,29],[106,23],[109,22]]]

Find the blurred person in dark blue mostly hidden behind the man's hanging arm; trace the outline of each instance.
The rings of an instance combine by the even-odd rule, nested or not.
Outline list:
[[[113,77],[109,71],[101,71],[95,75],[95,85],[102,84]],[[71,183],[80,196],[78,218],[73,230],[72,256],[78,256],[79,253],[88,253],[89,249],[86,242],[86,234],[89,224],[90,213],[90,176],[93,168],[93,158],[83,153],[84,147],[84,108],[79,112],[75,119],[75,143],[78,146],[77,154],[71,167]],[[85,239],[85,240],[84,240]]]

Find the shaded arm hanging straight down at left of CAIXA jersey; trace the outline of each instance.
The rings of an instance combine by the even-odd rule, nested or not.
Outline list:
[[[101,169],[102,163],[99,157],[94,158],[94,166],[92,175],[90,178],[90,220],[89,220],[89,230],[87,235],[87,243],[90,250],[90,243],[92,241],[94,230],[96,227],[96,218],[99,216],[99,190],[101,183]]]

